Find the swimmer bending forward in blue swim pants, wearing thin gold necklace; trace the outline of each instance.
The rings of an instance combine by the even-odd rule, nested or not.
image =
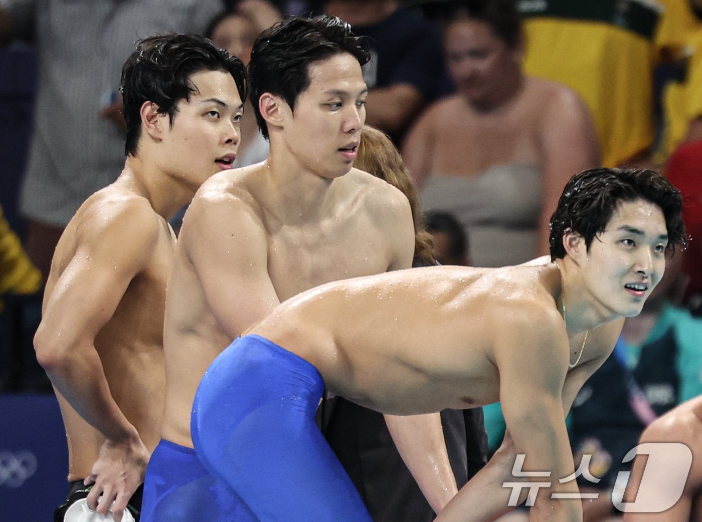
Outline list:
[[[565,415],[661,279],[665,249],[687,244],[681,207],[658,173],[585,170],[552,216],[550,262],[416,268],[293,297],[206,371],[193,405],[197,455],[261,522],[368,522],[316,433],[325,389],[399,415],[499,400],[503,446],[437,521],[508,511],[502,485],[515,482],[518,454],[525,471],[550,471],[531,520],[581,521],[579,498],[551,497],[578,493],[558,480],[574,473]],[[322,473],[335,502],[309,487]]]

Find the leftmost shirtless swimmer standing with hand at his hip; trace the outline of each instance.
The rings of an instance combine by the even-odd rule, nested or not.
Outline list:
[[[126,60],[121,91],[124,170],[62,234],[34,337],[66,428],[67,503],[94,483],[88,505],[104,515],[114,500],[115,521],[159,441],[166,279],[176,243],[167,220],[234,161],[246,71],[201,36],[153,36]],[[130,504],[137,514],[138,500]]]

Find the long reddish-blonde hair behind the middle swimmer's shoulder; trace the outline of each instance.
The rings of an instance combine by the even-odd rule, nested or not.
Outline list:
[[[365,170],[402,191],[402,194],[409,200],[409,206],[412,210],[414,255],[429,265],[436,265],[432,255],[432,236],[425,230],[417,188],[404,166],[402,156],[388,135],[365,125],[361,131],[361,143],[353,166]]]

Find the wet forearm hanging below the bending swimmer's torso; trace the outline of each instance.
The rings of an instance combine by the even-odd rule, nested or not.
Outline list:
[[[437,513],[456,495],[449,454],[439,413],[385,415],[388,430],[402,460]]]

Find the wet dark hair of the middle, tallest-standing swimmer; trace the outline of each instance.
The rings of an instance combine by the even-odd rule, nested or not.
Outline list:
[[[361,65],[371,56],[365,39],[336,17],[287,18],[258,36],[249,62],[249,82],[251,105],[264,138],[268,128],[258,109],[260,96],[280,96],[294,110],[298,95],[310,86],[307,66],[340,53],[349,53]]]

